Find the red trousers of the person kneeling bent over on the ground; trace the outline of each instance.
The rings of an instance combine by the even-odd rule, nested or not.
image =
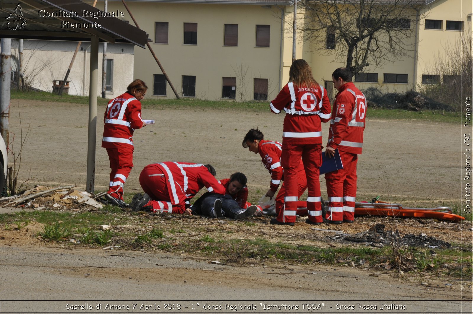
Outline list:
[[[144,167],[140,173],[140,185],[143,191],[149,195],[151,201],[145,206],[152,206],[154,212],[175,212],[184,214],[185,203],[171,204],[171,197],[167,190],[166,177],[156,167]]]

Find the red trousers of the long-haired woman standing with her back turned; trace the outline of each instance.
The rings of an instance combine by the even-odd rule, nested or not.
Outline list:
[[[298,207],[298,167],[300,159],[304,164],[307,180],[307,213],[309,220],[322,222],[322,205],[320,203],[319,167],[322,164],[321,144],[291,145],[282,143],[281,166],[284,168],[284,220],[295,222]]]

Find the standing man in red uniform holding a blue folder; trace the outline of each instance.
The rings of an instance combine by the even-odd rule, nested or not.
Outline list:
[[[325,174],[329,198],[326,219],[333,224],[352,223],[355,214],[356,166],[363,148],[367,105],[365,95],[351,81],[352,76],[347,68],[339,68],[332,74],[338,93],[325,154],[333,157],[338,148],[343,164],[343,169]]]

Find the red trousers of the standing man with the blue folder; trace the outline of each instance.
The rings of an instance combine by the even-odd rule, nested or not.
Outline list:
[[[358,155],[340,151],[343,169],[325,174],[328,194],[328,220],[353,220],[355,217],[356,165]]]

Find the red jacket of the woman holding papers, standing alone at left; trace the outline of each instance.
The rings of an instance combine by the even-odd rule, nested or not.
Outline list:
[[[141,103],[128,92],[110,100],[104,116],[102,147],[133,148],[133,131],[140,129]]]

